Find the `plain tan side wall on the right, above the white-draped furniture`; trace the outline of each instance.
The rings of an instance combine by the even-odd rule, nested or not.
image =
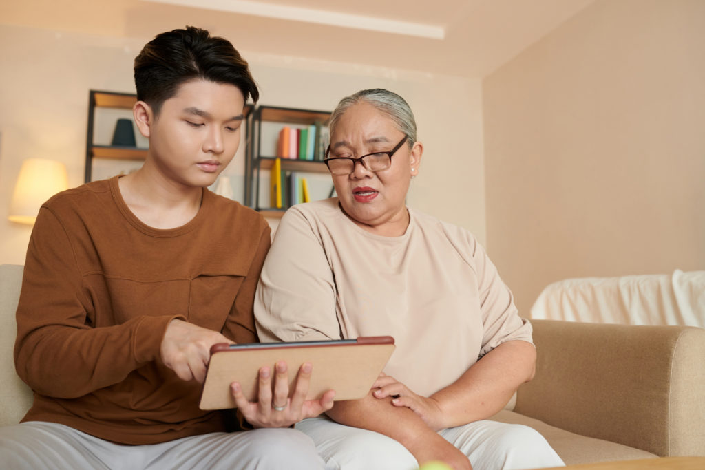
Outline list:
[[[483,82],[488,250],[517,305],[705,268],[705,1],[603,0]]]

